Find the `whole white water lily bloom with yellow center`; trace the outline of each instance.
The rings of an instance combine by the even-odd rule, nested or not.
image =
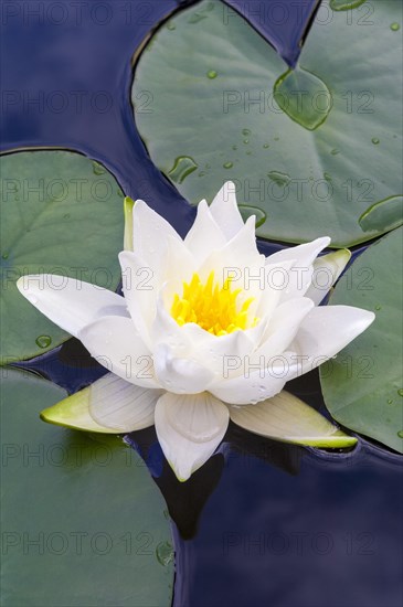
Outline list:
[[[145,202],[127,203],[124,297],[51,275],[18,281],[109,371],[44,418],[110,433],[155,424],[180,480],[215,451],[230,418],[264,436],[337,446],[342,433],[307,405],[286,393],[273,398],[374,319],[358,308],[318,307],[350,257],[318,257],[329,243],[318,238],[266,258],[255,217],[244,223],[231,182],[210,206],[199,204],[184,239]],[[299,414],[307,423],[319,417],[320,430],[303,428]]]

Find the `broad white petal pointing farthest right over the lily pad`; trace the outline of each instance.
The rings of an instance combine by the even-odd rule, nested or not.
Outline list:
[[[303,320],[290,345],[300,356],[300,373],[306,373],[335,356],[362,333],[375,315],[350,306],[314,308]]]

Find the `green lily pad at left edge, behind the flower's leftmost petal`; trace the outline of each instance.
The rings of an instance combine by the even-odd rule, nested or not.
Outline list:
[[[124,214],[115,178],[102,164],[70,151],[2,156],[0,192],[0,363],[6,364],[68,339],[21,296],[18,278],[49,273],[115,290]]]

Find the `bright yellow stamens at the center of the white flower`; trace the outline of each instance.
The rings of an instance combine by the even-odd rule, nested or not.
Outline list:
[[[222,287],[214,283],[212,271],[203,285],[199,274],[193,274],[191,281],[183,283],[182,296],[173,297],[171,316],[182,326],[195,322],[202,329],[214,336],[226,336],[238,329],[255,327],[258,318],[250,318],[248,309],[254,300],[246,299],[242,305],[237,301],[242,289],[231,289],[232,277]]]

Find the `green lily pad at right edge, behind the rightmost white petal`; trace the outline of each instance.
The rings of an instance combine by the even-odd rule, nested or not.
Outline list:
[[[341,424],[403,452],[403,228],[371,245],[340,278],[330,305],[375,312],[367,331],[320,369],[326,406]]]

